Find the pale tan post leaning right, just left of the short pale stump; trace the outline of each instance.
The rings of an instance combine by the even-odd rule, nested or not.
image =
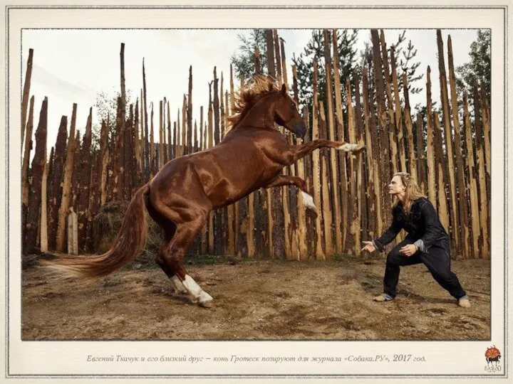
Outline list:
[[[61,206],[58,210],[58,224],[57,224],[57,242],[56,250],[64,252],[65,250],[65,237],[66,237],[66,218],[68,218],[68,208],[71,198],[71,175],[73,173],[73,155],[75,154],[75,123],[76,123],[76,108],[77,105],[73,104],[73,113],[71,114],[71,128],[68,137],[68,149],[66,153],[66,166],[64,168],[64,185]]]

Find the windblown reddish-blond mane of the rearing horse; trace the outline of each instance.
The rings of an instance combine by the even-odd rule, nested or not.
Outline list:
[[[264,75],[255,75],[247,85],[234,93],[234,110],[227,117],[227,131],[237,127],[237,124],[246,116],[247,112],[261,100],[262,97],[278,92],[276,81]]]

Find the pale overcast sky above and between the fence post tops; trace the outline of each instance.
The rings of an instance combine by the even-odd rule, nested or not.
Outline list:
[[[401,31],[385,30],[388,47],[397,40]],[[97,93],[103,91],[113,95],[120,88],[121,43],[125,43],[126,90],[130,90],[134,104],[142,88],[142,58],[145,59],[147,105],[149,109],[150,102],[154,103],[156,126],[158,103],[164,97],[170,101],[172,119],[176,119],[177,109],[182,107],[183,95],[188,92],[190,65],[193,76],[193,119],[199,121],[201,105],[204,106],[206,119],[208,82],[212,80],[214,66],[217,66],[218,78],[221,78],[221,73],[224,75],[224,89],[229,87],[229,59],[239,46],[237,33],[244,33],[244,30],[26,29],[22,33],[22,78],[25,78],[28,49],[33,48],[31,96],[35,97],[34,132],[45,96],[48,97],[48,148],[55,144],[61,116],[68,116],[68,124],[71,121],[73,102],[78,105],[76,127],[81,133],[84,132],[89,108],[93,107]],[[291,78],[292,54],[298,56],[303,51],[311,37],[311,30],[279,29],[278,33],[286,41],[287,68]],[[363,48],[369,34],[369,30],[360,30],[358,50]],[[452,38],[455,66],[467,63],[470,44],[476,40],[477,30],[442,30],[446,68],[448,34]],[[410,29],[406,32],[406,39],[411,40],[418,49],[416,59],[421,62],[418,72],[425,73],[427,65],[430,65],[432,96],[437,100],[440,87],[436,31]],[[237,86],[237,80],[235,84]],[[417,86],[425,87],[425,76]],[[413,107],[418,102],[425,105],[425,91],[412,97],[410,104]],[[93,122],[97,122],[94,110]]]

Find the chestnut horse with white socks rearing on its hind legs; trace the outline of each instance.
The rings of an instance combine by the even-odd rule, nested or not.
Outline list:
[[[165,231],[155,262],[170,278],[177,292],[193,303],[210,306],[212,297],[199,287],[182,265],[187,247],[202,230],[209,212],[227,206],[259,188],[297,186],[306,209],[316,207],[306,183],[297,176],[281,175],[284,166],[324,146],[358,152],[357,144],[324,139],[290,145],[274,123],[303,138],[304,119],[296,102],[274,81],[257,76],[236,99],[232,128],[216,146],[169,161],[130,201],[117,238],[103,255],[61,255],[46,265],[79,277],[102,277],[132,261],[145,246],[144,210]]]

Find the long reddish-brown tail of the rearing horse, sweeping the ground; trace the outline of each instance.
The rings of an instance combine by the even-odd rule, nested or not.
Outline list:
[[[103,277],[135,259],[144,248],[147,238],[144,195],[149,185],[142,186],[130,201],[121,228],[110,250],[103,255],[57,255],[56,260],[43,261],[43,265],[75,277]]]

